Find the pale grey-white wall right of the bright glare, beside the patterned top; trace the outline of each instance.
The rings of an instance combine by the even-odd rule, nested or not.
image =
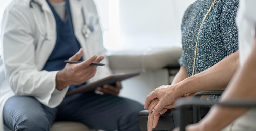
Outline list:
[[[181,46],[180,24],[194,0],[120,0],[120,33],[125,48]]]

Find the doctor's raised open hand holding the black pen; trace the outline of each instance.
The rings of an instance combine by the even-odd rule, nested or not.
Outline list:
[[[83,49],[69,58],[70,61],[78,61],[83,56]],[[100,62],[104,56],[96,56],[77,64],[67,63],[65,68],[56,75],[56,88],[63,90],[69,85],[79,85],[88,81],[96,73],[97,66],[90,66],[92,62]]]

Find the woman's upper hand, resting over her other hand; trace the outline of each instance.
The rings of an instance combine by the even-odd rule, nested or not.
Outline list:
[[[156,88],[147,96],[144,108],[149,109],[151,102],[157,98],[159,99],[159,102],[154,106],[152,113],[154,115],[158,115],[165,106],[173,104],[173,102],[177,98],[183,96],[179,94],[181,93],[177,92],[175,85],[163,85],[161,87]]]

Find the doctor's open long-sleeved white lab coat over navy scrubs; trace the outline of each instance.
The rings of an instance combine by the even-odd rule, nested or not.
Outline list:
[[[1,60],[0,60],[0,131],[3,131],[3,107],[8,98],[34,96],[49,107],[58,106],[68,90],[55,88],[57,71],[41,71],[51,54],[56,42],[56,22],[46,0],[13,0],[7,7],[1,25]],[[83,26],[81,7],[84,6],[87,23],[94,26],[89,38],[81,33]],[[102,32],[98,22],[95,4],[92,0],[70,0],[70,8],[77,40],[84,49],[83,59],[93,55],[104,55]],[[46,23],[43,23],[43,19]],[[46,26],[46,27],[45,27]],[[44,40],[40,30],[46,31],[49,40]],[[108,65],[106,58],[102,61]],[[108,66],[97,68],[96,75],[89,80],[95,81],[111,74]],[[14,105],[15,107],[15,105]]]

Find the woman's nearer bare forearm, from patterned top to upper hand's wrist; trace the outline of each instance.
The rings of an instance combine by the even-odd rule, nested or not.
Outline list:
[[[239,67],[239,52],[235,52],[207,70],[181,81],[178,89],[183,94],[204,90],[224,90]]]

